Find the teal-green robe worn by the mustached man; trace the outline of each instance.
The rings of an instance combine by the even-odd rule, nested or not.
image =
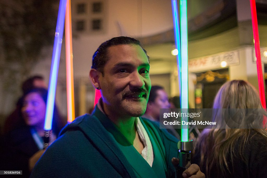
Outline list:
[[[65,126],[31,177],[174,177],[177,142],[156,122],[140,118],[150,138],[152,168],[97,107]]]

